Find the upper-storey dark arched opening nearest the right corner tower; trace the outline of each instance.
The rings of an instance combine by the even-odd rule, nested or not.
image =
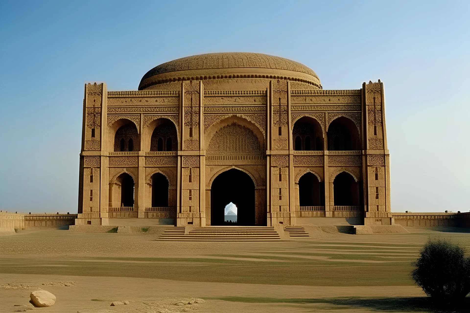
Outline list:
[[[359,132],[356,125],[346,117],[338,117],[328,127],[328,150],[360,150]]]

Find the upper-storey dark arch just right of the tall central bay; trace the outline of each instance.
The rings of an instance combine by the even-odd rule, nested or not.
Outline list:
[[[320,123],[309,116],[299,118],[292,129],[294,150],[323,150],[323,130]]]

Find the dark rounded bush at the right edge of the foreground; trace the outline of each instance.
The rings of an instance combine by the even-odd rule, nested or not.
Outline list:
[[[451,241],[429,239],[412,263],[415,283],[439,302],[463,300],[470,292],[470,257]]]

